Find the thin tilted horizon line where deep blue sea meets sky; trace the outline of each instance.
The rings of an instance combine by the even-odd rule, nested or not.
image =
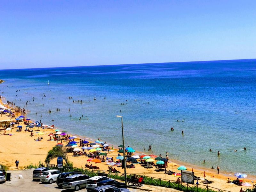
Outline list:
[[[253,58],[253,59],[228,59],[228,60],[176,61],[176,62],[160,62],[160,63],[191,63],[191,62],[211,62],[211,61],[236,61],[236,60],[256,60],[256,58]],[[95,67],[95,66],[143,65],[143,64],[160,64],[160,63],[129,63],[129,64],[113,64],[113,65],[110,64],[110,65],[67,66],[67,67],[14,68],[14,69],[0,69],[0,71],[17,70],[17,69],[49,69],[49,68]]]

